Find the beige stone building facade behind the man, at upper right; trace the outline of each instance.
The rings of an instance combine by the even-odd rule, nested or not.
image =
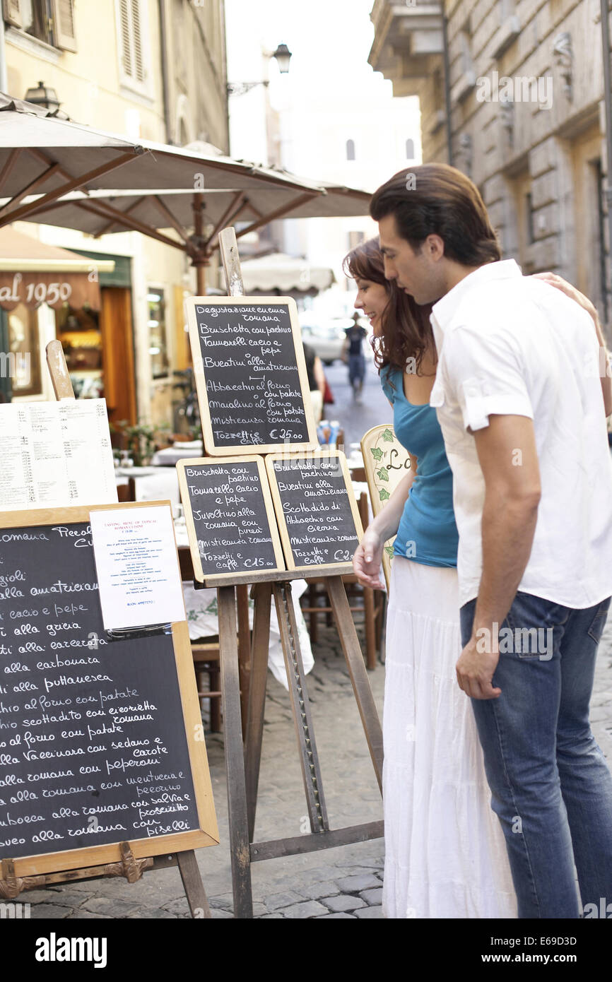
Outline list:
[[[369,63],[394,94],[419,96],[423,161],[450,156],[473,179],[504,254],[565,276],[609,326],[599,11],[599,0],[375,0]]]

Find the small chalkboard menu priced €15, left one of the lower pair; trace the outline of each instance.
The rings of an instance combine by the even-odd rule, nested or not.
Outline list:
[[[263,458],[177,464],[195,579],[284,570]]]

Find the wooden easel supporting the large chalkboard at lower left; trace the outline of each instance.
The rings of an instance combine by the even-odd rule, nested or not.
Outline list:
[[[74,399],[75,393],[60,342],[51,341],[47,345],[46,353],[56,399]],[[24,877],[16,876],[15,865],[12,860],[4,859],[0,864],[0,898],[13,900],[23,890],[42,888],[57,883],[71,883],[75,880],[95,880],[109,876],[124,876],[128,883],[135,883],[147,870],[178,866],[192,916],[210,918],[210,907],[195,859],[194,849],[178,851],[171,855],[136,858],[129,843],[121,843],[119,847],[120,862]]]

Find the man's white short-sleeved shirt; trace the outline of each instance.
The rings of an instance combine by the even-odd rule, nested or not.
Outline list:
[[[519,590],[575,609],[604,600],[612,461],[591,318],[508,259],[465,277],[434,304],[431,324],[439,360],[430,404],[453,469],[462,605],[477,596],[482,573],[485,488],[469,430],[493,413],[528,416],[535,433],[541,498]]]

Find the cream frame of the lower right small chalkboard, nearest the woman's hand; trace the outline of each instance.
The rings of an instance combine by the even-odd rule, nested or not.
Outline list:
[[[276,512],[276,518],[278,520],[278,527],[281,534],[281,541],[283,543],[283,551],[285,553],[285,561],[287,563],[287,569],[292,571],[294,570],[301,571],[303,573],[315,573],[315,574],[326,573],[328,575],[353,573],[353,554],[355,552],[355,548],[353,548],[353,546],[348,546],[346,548],[340,546],[336,550],[336,552],[342,552],[344,554],[343,559],[331,563],[311,562],[311,563],[304,564],[296,560],[296,557],[294,555],[295,546],[292,544],[292,537],[289,533],[289,528],[287,523],[287,518],[289,516],[287,515],[283,507],[284,492],[281,489],[279,489],[276,470],[274,468],[274,464],[276,462],[283,462],[283,461],[304,462],[305,466],[307,466],[309,462],[317,462],[317,461],[335,462],[333,469],[336,471],[336,477],[338,476],[342,477],[342,485],[344,486],[344,489],[346,491],[348,504],[350,508],[350,514],[355,523],[355,532],[357,533],[355,548],[357,548],[357,543],[361,541],[362,534],[363,534],[362,519],[360,517],[359,509],[357,507],[357,501],[355,499],[355,493],[353,491],[353,485],[351,483],[351,474],[347,466],[347,459],[345,455],[342,453],[342,451],[339,450],[319,450],[319,451],[314,451],[314,453],[308,453],[308,454],[270,454],[265,459],[265,465],[268,471],[268,478],[270,481],[270,491],[272,493],[272,501],[274,502],[274,510]],[[340,468],[339,474],[338,474],[338,468]],[[294,493],[296,493],[296,490],[298,489],[294,488],[292,490]],[[330,492],[332,494],[338,494],[338,491],[339,491],[338,488],[336,489],[330,488]],[[298,490],[298,495],[302,499],[304,499],[304,495],[301,495],[299,490]],[[324,492],[322,493],[321,497],[323,496],[324,496]],[[296,507],[300,509],[304,509],[304,500],[301,500]],[[319,515],[318,521],[321,525],[321,531],[324,532],[327,529],[325,527],[324,520],[321,521],[321,518],[322,515]],[[329,524],[333,525],[333,520],[330,519]],[[310,533],[308,531],[308,528],[306,528],[306,535],[310,535],[310,534],[313,533]],[[312,557],[315,560],[316,559],[315,552],[318,550],[316,549],[316,545],[314,543],[313,543],[313,547],[314,548],[313,548]],[[349,553],[350,553],[350,558],[349,558]],[[346,558],[344,558],[345,556]]]

